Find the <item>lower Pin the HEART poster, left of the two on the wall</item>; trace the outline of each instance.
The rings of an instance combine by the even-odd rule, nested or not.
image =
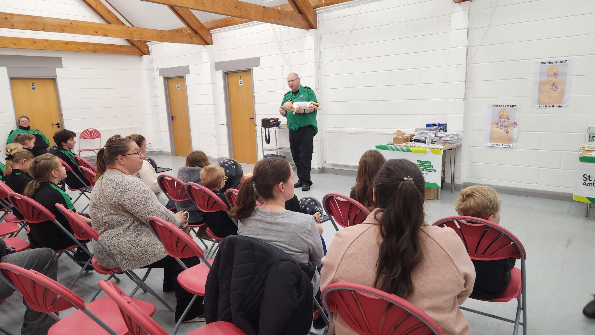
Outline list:
[[[484,146],[515,148],[518,141],[519,105],[488,105]]]

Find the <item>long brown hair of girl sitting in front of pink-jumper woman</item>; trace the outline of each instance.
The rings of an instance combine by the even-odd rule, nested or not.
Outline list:
[[[374,180],[385,162],[386,158],[378,150],[368,150],[359,158],[358,174],[355,176],[355,200],[368,209],[374,208]]]

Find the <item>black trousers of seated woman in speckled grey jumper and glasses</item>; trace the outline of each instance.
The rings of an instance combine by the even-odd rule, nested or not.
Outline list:
[[[184,262],[188,268],[193,267],[200,262],[198,257],[184,258],[181,261]],[[174,313],[174,320],[177,322],[194,296],[192,293],[184,290],[184,287],[181,287],[178,283],[178,275],[184,271],[184,268],[182,268],[176,259],[171,256],[165,256],[165,258],[159,259],[159,261],[149,264],[146,267],[143,267],[143,269],[144,268],[163,269],[163,289],[169,291],[173,288],[176,291],[176,312]],[[188,314],[184,317],[185,320],[182,321],[192,320],[205,312],[205,305],[202,304],[203,299],[202,296],[196,298],[192,307],[188,311]]]

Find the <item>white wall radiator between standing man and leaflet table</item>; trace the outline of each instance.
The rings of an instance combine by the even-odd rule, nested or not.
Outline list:
[[[324,138],[324,164],[358,166],[359,158],[378,144],[393,142],[391,132],[327,130]]]

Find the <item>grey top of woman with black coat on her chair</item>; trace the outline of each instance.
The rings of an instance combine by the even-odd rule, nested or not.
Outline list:
[[[256,207],[252,215],[238,223],[237,234],[270,243],[299,264],[322,264],[322,240],[312,215]]]

